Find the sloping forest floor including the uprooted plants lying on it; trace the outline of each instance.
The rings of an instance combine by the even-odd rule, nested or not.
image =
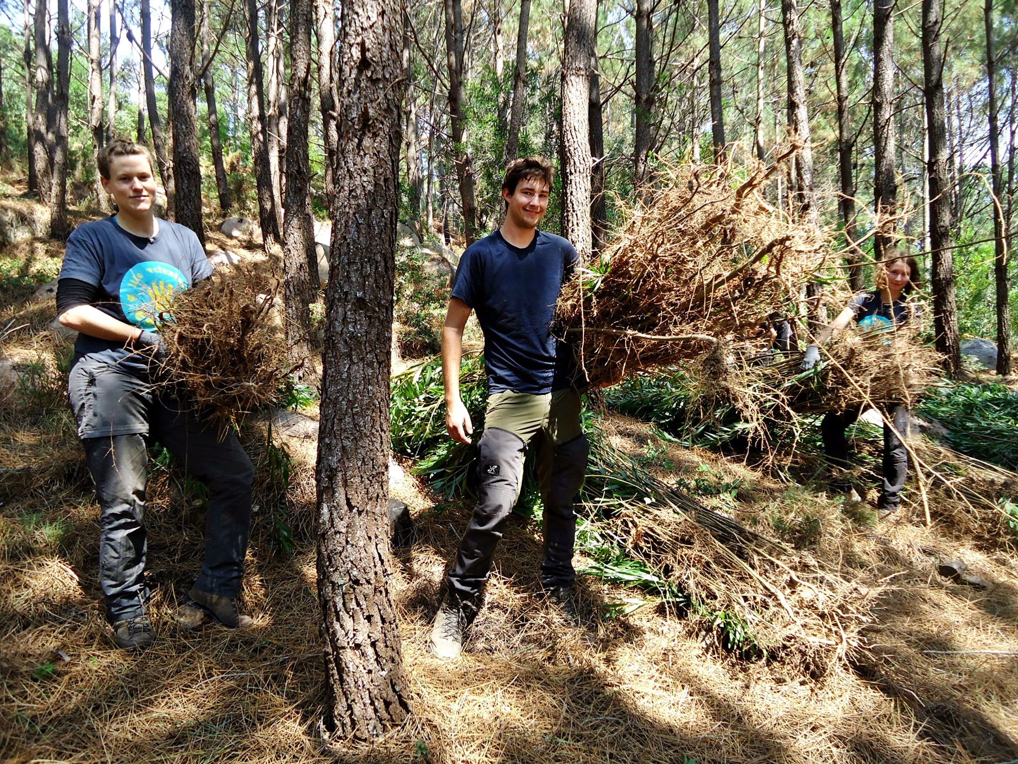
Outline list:
[[[213,237],[211,247],[264,265],[236,242]],[[24,251],[0,257],[13,262]],[[900,516],[878,524],[871,508],[844,505],[824,482],[814,433],[803,433],[801,458],[775,470],[731,441],[683,445],[646,411],[604,413],[587,422],[601,438],[600,460],[581,505],[577,614],[541,595],[540,499],[530,491],[509,520],[463,659],[428,654],[443,571],[471,503],[468,453],[435,437],[444,414],[433,405],[434,364],[407,364],[394,385],[404,474],[392,490],[415,522],[390,581],[414,708],[404,727],[369,746],[326,747],[319,738],[315,440],[270,437],[266,417],[242,433],[259,466],[242,593],[254,629],[172,626],[200,564],[203,494],[156,453],[147,525],[158,641],[142,655],[116,650],[99,605],[98,505],[64,398],[69,339],[50,326],[52,295],[32,296],[55,276],[59,248],[40,241],[29,251],[37,254],[24,268],[5,264],[17,281],[5,280],[0,295],[3,358],[16,375],[0,392],[0,760],[1018,759],[1014,528],[982,522],[991,515],[973,513],[965,494],[1013,474],[978,477],[966,472],[972,462],[943,450],[936,463],[957,480],[953,489],[930,484],[930,525],[914,482]],[[398,389],[408,380],[416,392]],[[479,393],[465,392],[468,405],[479,403]],[[317,418],[314,401],[291,402]],[[879,473],[875,433],[856,428],[868,485]],[[633,475],[641,482],[627,489]],[[683,507],[688,517],[679,516]],[[777,562],[754,557],[756,547],[721,556],[704,517],[774,541],[781,552],[768,553]],[[781,615],[777,595],[739,560],[796,617]],[[964,562],[967,578],[942,576],[949,560]],[[709,572],[714,589],[694,589]],[[832,638],[839,629],[844,639]],[[794,647],[806,637],[837,644]]]

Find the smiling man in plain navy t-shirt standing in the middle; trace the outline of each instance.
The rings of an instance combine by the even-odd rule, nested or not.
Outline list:
[[[538,230],[548,210],[554,168],[543,157],[511,162],[502,181],[502,227],[475,241],[460,260],[442,334],[446,428],[469,443],[470,415],[459,395],[463,328],[473,311],[485,334],[488,406],[477,462],[478,502],[460,542],[448,593],[429,649],[459,656],[463,631],[476,611],[495,546],[519,495],[523,451],[541,438],[539,480],[545,507],[542,585],[571,605],[576,515],[572,499],[586,469],[580,395],[566,373],[569,348],[559,347],[552,319],[563,283],[578,265],[566,239]]]

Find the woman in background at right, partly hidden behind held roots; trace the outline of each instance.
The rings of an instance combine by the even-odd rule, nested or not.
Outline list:
[[[834,322],[816,337],[815,344],[806,348],[802,368],[812,369],[821,360],[819,348],[835,331],[844,329],[852,322],[863,331],[887,331],[895,326],[918,318],[918,309],[909,305],[909,296],[920,284],[919,264],[915,258],[893,257],[876,265],[876,288],[859,292]],[[849,467],[849,447],[845,430],[862,414],[864,406],[847,412],[828,412],[821,423],[824,438],[824,453],[838,468]],[[901,504],[901,489],[908,476],[908,451],[899,436],[904,437],[908,429],[908,410],[900,403],[889,405],[884,412],[884,483],[881,487],[876,507],[880,516],[886,517]],[[891,427],[893,425],[893,429]],[[844,480],[833,485],[845,493],[849,501],[859,501],[854,486]]]

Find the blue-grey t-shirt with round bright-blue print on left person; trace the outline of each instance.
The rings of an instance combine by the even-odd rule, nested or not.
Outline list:
[[[174,296],[213,268],[194,231],[159,220],[152,238],[121,228],[113,216],[79,225],[67,238],[60,278],[75,278],[98,287],[93,305],[118,321],[159,331],[170,318]],[[147,361],[123,342],[78,333],[77,356],[102,353],[104,360],[131,371],[145,371]]]

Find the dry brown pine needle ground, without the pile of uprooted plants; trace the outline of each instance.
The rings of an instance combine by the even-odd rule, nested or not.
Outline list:
[[[114,649],[98,604],[98,506],[63,403],[47,329],[52,301],[0,308],[30,330],[3,341],[33,385],[0,408],[0,761],[67,762],[1004,762],[1018,759],[1018,564],[975,533],[957,497],[935,493],[924,528],[911,503],[874,528],[823,485],[787,487],[709,451],[613,422],[613,443],[663,480],[710,468],[749,487],[704,499],[872,592],[859,651],[822,675],[794,661],[745,661],[665,607],[609,618],[631,592],[583,577],[573,619],[539,596],[540,524],[510,519],[465,657],[425,650],[436,594],[469,506],[441,504],[407,477],[395,493],[416,539],[397,550],[414,715],[373,746],[325,747],[315,553],[298,534],[275,554],[260,509],[243,591],[256,627],[180,633],[170,613],[200,563],[203,511],[154,470],[148,513],[157,646]],[[48,317],[48,318],[47,318]],[[32,362],[38,366],[31,367]],[[250,426],[259,457],[258,428]],[[309,512],[298,461],[294,528]],[[301,463],[302,462],[302,463]],[[404,465],[409,467],[408,463]],[[985,587],[937,575],[960,558]],[[580,557],[578,566],[590,562]],[[929,652],[940,651],[940,652]],[[1010,654],[1009,654],[1010,653]]]

